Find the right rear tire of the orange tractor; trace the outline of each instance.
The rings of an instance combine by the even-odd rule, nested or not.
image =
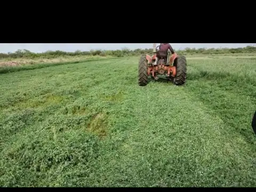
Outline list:
[[[176,67],[176,76],[174,79],[175,85],[183,85],[186,83],[187,78],[187,60],[185,56],[179,56],[176,61],[174,61],[174,66]]]

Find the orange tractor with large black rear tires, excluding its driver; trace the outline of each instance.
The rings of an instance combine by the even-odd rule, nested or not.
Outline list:
[[[159,46],[157,46],[159,47]],[[139,61],[139,85],[148,84],[148,77],[158,79],[159,75],[165,75],[175,85],[183,85],[186,83],[187,61],[185,56],[179,56],[177,53],[167,55],[167,59],[158,57],[159,50],[154,44],[153,53],[150,57],[148,54],[141,55]]]

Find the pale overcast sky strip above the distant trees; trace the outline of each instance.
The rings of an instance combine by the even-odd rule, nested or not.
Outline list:
[[[157,44],[159,45],[159,43]],[[171,43],[174,50],[190,48],[218,48],[218,47],[245,47],[252,45],[251,43]],[[153,43],[0,43],[0,53],[15,52],[18,49],[27,49],[31,52],[45,52],[45,51],[69,51],[76,50],[90,51],[90,50],[118,50],[122,48],[145,49],[152,48]]]

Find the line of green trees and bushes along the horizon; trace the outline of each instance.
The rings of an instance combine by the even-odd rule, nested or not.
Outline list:
[[[175,51],[175,50],[174,50]],[[176,51],[178,54],[236,54],[236,53],[256,53],[256,47],[246,46],[239,48],[218,48],[218,49],[206,49],[206,48],[186,48],[184,50]],[[0,59],[4,58],[58,58],[65,56],[94,56],[99,55],[101,57],[113,56],[113,57],[129,57],[136,56],[140,54],[153,54],[153,49],[135,49],[130,50],[123,48],[121,50],[90,50],[90,51],[80,51],[66,52],[66,51],[46,51],[43,53],[34,53],[29,50],[17,50],[15,52],[0,53]]]

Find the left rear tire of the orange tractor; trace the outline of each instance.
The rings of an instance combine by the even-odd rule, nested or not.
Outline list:
[[[139,61],[139,85],[145,86],[148,84],[148,61],[146,55],[141,55]]]

